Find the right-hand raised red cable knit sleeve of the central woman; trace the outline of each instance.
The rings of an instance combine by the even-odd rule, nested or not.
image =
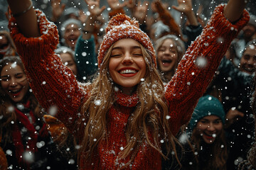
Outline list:
[[[201,35],[188,47],[178,64],[176,74],[166,85],[170,125],[174,135],[191,119],[193,109],[213,79],[220,60],[243,26],[249,21],[244,11],[235,24],[223,16],[224,4],[215,8]]]

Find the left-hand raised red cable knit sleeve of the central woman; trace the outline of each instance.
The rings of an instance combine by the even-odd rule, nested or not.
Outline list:
[[[72,71],[54,53],[58,45],[57,27],[47,20],[43,12],[36,10],[36,15],[40,37],[24,37],[14,17],[9,21],[11,37],[25,66],[33,94],[41,106],[75,132],[74,124],[85,92],[78,86]],[[55,108],[58,109],[56,115]]]

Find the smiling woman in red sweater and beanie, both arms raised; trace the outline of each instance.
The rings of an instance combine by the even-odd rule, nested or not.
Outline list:
[[[164,86],[149,37],[128,16],[114,16],[100,46],[99,74],[92,84],[78,84],[53,52],[56,27],[29,8],[31,1],[8,3],[14,15],[9,22],[17,23],[9,24],[11,35],[33,93],[46,110],[58,106],[55,117],[79,139],[80,169],[161,169],[161,157],[166,157],[161,147],[176,152],[175,135],[190,120],[230,42],[249,19],[243,0],[218,6]],[[211,33],[215,36],[208,39]],[[203,69],[194,62],[201,60],[198,56],[208,60]]]

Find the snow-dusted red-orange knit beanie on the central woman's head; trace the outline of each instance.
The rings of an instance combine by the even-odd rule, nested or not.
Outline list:
[[[111,45],[113,45],[114,42],[124,38],[137,40],[137,42],[149,50],[154,62],[154,67],[156,67],[156,54],[154,47],[149,39],[149,36],[139,29],[138,21],[132,20],[129,18],[129,16],[124,14],[118,14],[117,16],[111,18],[105,31],[106,35],[104,36],[102,44],[100,45],[99,55],[97,57],[99,68],[101,67],[103,58]]]

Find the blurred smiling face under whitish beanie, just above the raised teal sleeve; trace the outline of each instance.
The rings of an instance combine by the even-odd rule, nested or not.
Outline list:
[[[81,32],[76,24],[70,24],[65,28],[64,39],[65,43],[72,50],[75,50],[75,43],[77,42]]]

